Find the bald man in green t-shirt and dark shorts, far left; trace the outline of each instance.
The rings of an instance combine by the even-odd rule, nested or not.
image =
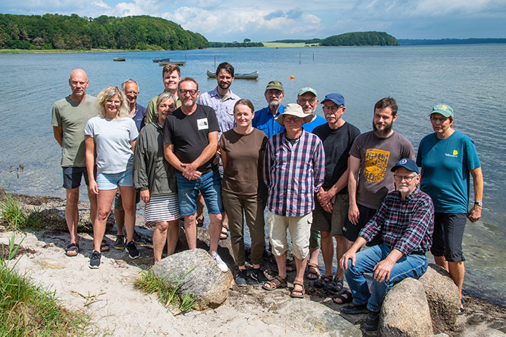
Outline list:
[[[88,84],[86,73],[82,69],[74,69],[69,78],[72,93],[54,103],[51,118],[54,138],[61,146],[61,167],[66,190],[65,219],[71,237],[71,242],[66,247],[67,256],[79,254],[79,236],[77,235],[79,209],[77,204],[83,175],[86,185],[88,185],[84,155],[84,127],[88,119],[98,113],[95,98],[86,95]],[[88,197],[90,199],[90,219],[93,222],[96,217],[96,195],[89,188]]]

